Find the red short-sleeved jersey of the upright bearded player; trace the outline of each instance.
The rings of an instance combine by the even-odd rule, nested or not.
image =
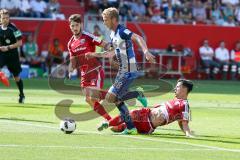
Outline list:
[[[81,71],[88,72],[102,66],[102,63],[98,58],[85,58],[86,53],[95,52],[96,46],[101,45],[101,43],[102,40],[85,31],[82,32],[82,35],[78,39],[75,39],[74,36],[72,36],[69,40],[68,51],[70,53],[70,57],[78,57],[78,63],[81,66]]]

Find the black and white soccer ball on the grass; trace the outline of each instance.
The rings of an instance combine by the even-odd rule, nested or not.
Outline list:
[[[60,122],[60,129],[65,134],[71,134],[76,130],[76,122],[73,119],[66,118]]]

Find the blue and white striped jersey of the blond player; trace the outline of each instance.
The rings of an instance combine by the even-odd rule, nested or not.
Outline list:
[[[122,25],[110,34],[112,45],[119,63],[119,73],[136,72],[137,64],[131,40],[133,32]]]

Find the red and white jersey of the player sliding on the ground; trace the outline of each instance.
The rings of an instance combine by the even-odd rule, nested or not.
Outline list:
[[[166,116],[167,124],[176,120],[189,121],[190,119],[190,109],[187,100],[174,98],[173,100],[159,105],[159,107]]]

